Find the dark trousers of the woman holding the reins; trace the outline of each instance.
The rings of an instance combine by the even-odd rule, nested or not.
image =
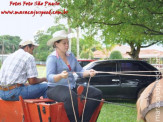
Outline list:
[[[73,89],[71,91],[72,91],[72,97],[73,97],[73,103],[74,103],[77,121],[81,122],[81,118],[79,117],[79,113],[78,113],[78,101],[77,101],[78,96],[76,93],[76,89]],[[85,96],[85,94],[86,94],[86,87],[84,86],[82,95]],[[63,102],[64,108],[66,110],[66,113],[67,113],[67,116],[68,116],[70,122],[75,122],[69,88],[67,86],[58,85],[55,87],[48,87],[47,96],[50,99],[56,100],[58,102]],[[102,92],[97,88],[89,87],[88,97],[100,100],[102,98]],[[83,119],[84,122],[89,122],[94,110],[97,108],[98,105],[99,105],[98,101],[87,100],[85,112],[84,112],[84,119]]]

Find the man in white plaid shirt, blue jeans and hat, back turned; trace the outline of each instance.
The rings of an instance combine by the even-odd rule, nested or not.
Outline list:
[[[37,78],[33,50],[38,46],[34,41],[21,41],[20,49],[9,55],[0,70],[0,98],[17,101],[46,96],[46,78]],[[28,81],[28,83],[27,83]]]

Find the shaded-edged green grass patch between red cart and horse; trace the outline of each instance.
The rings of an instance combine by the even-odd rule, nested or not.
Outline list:
[[[137,122],[136,100],[105,100],[97,122]]]

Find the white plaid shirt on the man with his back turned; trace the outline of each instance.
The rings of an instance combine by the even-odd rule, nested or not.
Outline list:
[[[24,84],[27,78],[37,76],[34,57],[23,49],[19,49],[5,59],[0,70],[0,86]]]

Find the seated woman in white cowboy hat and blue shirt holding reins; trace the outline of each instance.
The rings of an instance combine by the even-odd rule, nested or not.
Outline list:
[[[73,72],[77,72],[80,77],[93,77],[96,74],[96,71],[84,70],[76,60],[75,56],[71,52],[68,52],[68,33],[65,30],[55,32],[53,34],[53,38],[47,42],[47,45],[55,48],[55,51],[48,56],[46,61],[46,74],[49,86],[47,96],[50,99],[64,103],[64,108],[70,122],[80,121],[81,118],[79,118],[78,114],[77,84],[75,82]],[[72,101],[69,86],[76,114],[74,114],[72,109],[73,106],[71,104]],[[89,98],[101,99],[102,92],[99,89],[89,87],[88,91]],[[86,87],[84,87],[82,92],[82,95],[86,96],[85,94]],[[98,105],[99,102],[97,101],[87,100],[83,119],[84,122],[88,122],[90,120]]]

